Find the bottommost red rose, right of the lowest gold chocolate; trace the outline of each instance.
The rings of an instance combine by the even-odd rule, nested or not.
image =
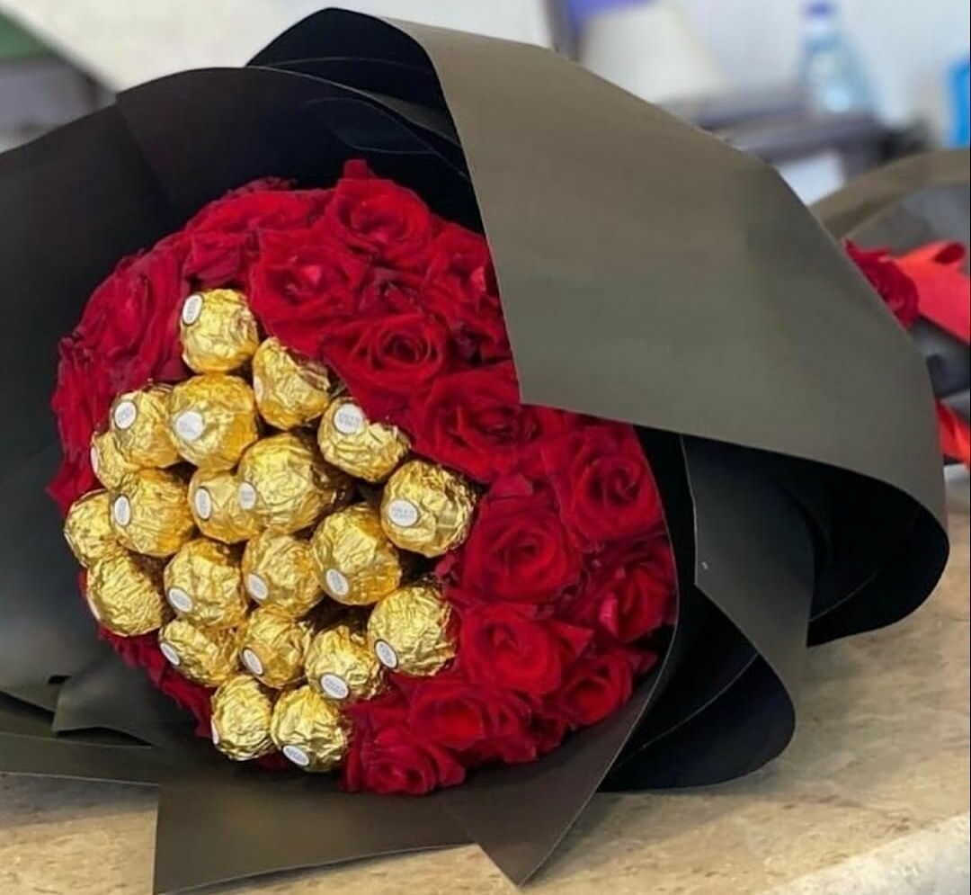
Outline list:
[[[404,725],[355,729],[344,769],[344,785],[352,792],[419,796],[464,778],[465,769],[451,752]]]

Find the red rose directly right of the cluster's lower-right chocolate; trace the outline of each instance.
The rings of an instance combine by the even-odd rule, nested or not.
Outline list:
[[[589,638],[582,628],[540,619],[531,606],[490,603],[462,612],[459,655],[480,685],[542,696],[560,686]]]

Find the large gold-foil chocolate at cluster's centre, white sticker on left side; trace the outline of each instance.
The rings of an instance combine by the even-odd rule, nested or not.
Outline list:
[[[313,525],[350,498],[351,480],[325,464],[307,439],[282,432],[257,441],[243,455],[239,501],[275,532],[297,532]]]

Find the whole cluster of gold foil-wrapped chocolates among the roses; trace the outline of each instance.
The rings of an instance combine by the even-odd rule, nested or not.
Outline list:
[[[104,488],[64,532],[98,622],[157,630],[176,669],[217,688],[222,752],[280,749],[326,771],[348,746],[342,706],[377,694],[386,669],[452,658],[421,557],[461,543],[475,491],[409,459],[407,436],[326,367],[260,341],[242,293],[189,295],[180,327],[196,375],[117,396],[91,442]]]

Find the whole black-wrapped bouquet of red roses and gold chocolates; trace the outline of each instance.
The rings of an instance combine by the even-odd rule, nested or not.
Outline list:
[[[807,644],[943,567],[880,297],[549,52],[328,10],[0,197],[0,767],[156,782],[160,891],[464,842],[521,882],[598,787],[772,759]]]

